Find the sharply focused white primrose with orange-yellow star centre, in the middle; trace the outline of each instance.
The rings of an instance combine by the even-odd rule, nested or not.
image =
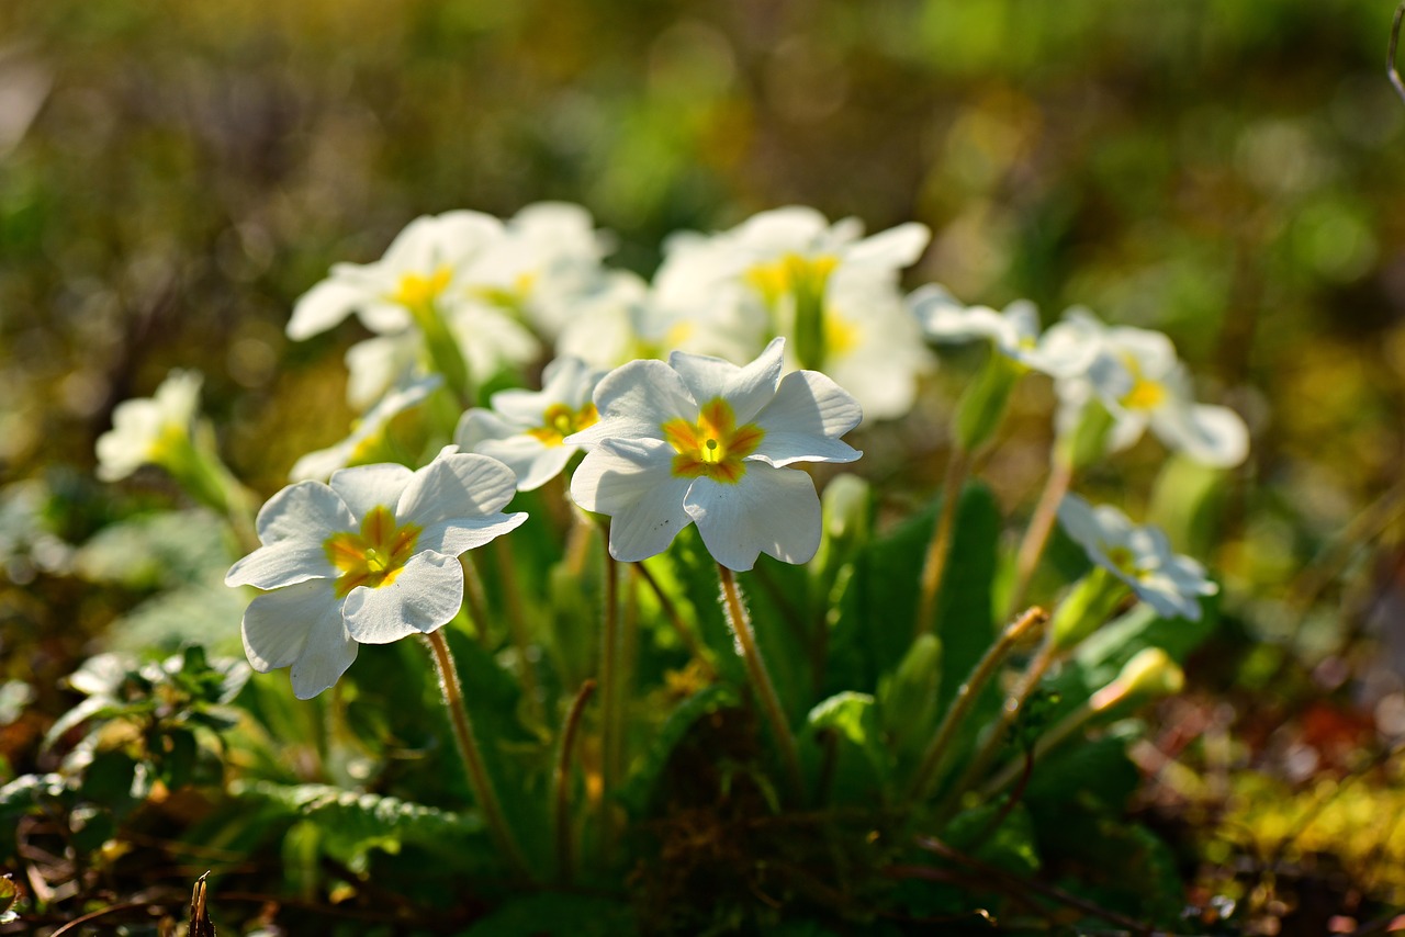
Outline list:
[[[566,437],[586,445],[570,494],[608,514],[610,555],[635,562],[697,524],[712,558],[747,570],[760,553],[804,563],[819,548],[815,483],[795,462],[853,462],[839,437],[858,403],[816,371],[781,378],[784,339],[746,367],[673,353],[632,361],[596,388],[600,421]]]

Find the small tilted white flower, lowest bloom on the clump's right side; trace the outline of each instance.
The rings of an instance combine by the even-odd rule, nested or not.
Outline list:
[[[1116,507],[1092,507],[1076,494],[1065,494],[1058,520],[1089,559],[1131,586],[1159,615],[1200,621],[1200,596],[1220,591],[1205,579],[1204,566],[1172,552],[1161,530],[1138,527]]]

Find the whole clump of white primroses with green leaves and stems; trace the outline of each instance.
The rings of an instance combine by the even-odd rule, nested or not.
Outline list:
[[[451,870],[521,895],[629,881],[635,907],[690,875],[739,882],[728,907],[679,912],[680,933],[816,907],[1052,917],[1010,882],[1055,861],[1061,837],[1079,839],[1085,870],[1166,867],[1149,830],[1106,822],[1121,822],[1130,789],[1106,781],[1124,773],[1080,766],[1127,764],[1142,730],[1128,716],[1179,688],[1217,593],[1159,530],[1072,487],[1146,428],[1220,471],[1248,431],[1194,400],[1166,336],[1076,309],[1041,330],[1030,302],[967,306],[936,284],[903,294],[929,239],[785,208],[676,235],[649,282],[604,264],[608,239],[576,207],[422,218],[295,303],[291,339],[353,315],[371,333],[348,355],[362,416],[298,459],[256,520],[188,374],[117,410],[101,473],[155,464],[230,516],[244,549],[225,583],[253,590],[254,670],[287,667],[298,701],[357,714],[332,723],[371,750],[389,726],[452,735],[465,815],[486,830],[469,840],[488,848]],[[981,364],[944,413],[924,378],[972,341]],[[1048,402],[1050,465],[1037,503],[1006,513],[972,469],[1021,381]],[[915,458],[901,448],[913,409],[950,427],[934,497],[864,480],[922,475],[896,471]],[[858,431],[881,461],[858,462]],[[1006,517],[1028,518],[1012,549]],[[402,638],[433,669],[389,648],[358,663]],[[445,708],[412,719],[430,673]],[[289,782],[230,771],[236,801]],[[396,804],[447,782],[375,764],[357,778]],[[280,802],[312,822],[306,798]],[[698,832],[739,822],[745,841]],[[992,864],[1005,871],[981,884]],[[1151,884],[1109,891],[1100,875],[1087,892],[1113,895],[1114,920],[1175,916]]]

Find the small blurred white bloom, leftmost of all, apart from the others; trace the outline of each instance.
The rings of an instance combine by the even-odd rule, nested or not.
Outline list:
[[[171,371],[150,398],[122,400],[97,440],[97,476],[117,482],[142,465],[177,471],[190,459],[200,410],[198,371]]]

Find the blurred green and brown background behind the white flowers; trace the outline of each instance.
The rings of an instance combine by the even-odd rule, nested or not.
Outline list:
[[[181,365],[205,372],[236,471],[274,490],[351,416],[339,351],[358,326],[292,346],[294,299],[419,214],[577,201],[615,233],[613,263],[648,274],[669,232],[798,202],[929,225],[909,285],[1170,333],[1201,399],[1255,433],[1207,558],[1277,601],[1401,475],[1391,13],[8,0],[0,472],[86,475],[111,407]],[[1043,440],[1026,445],[1009,500],[1040,483]],[[1144,443],[1124,466],[1161,458]]]

